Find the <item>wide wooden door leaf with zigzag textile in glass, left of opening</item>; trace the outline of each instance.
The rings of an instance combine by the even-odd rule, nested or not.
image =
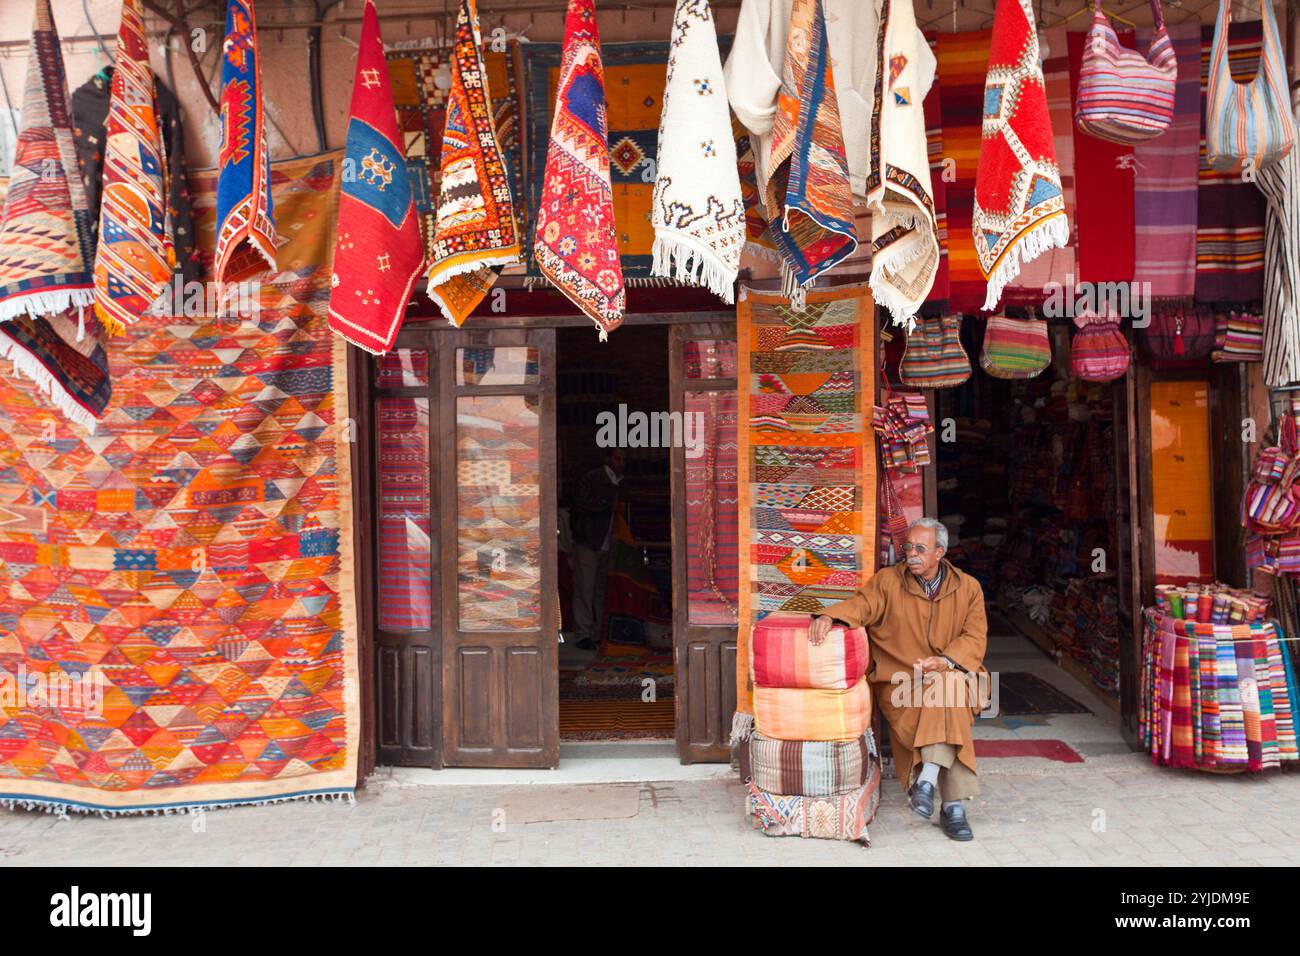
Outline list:
[[[555,333],[436,334],[443,763],[554,767]]]

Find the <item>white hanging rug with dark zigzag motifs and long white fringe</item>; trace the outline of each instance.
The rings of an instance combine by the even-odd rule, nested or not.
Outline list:
[[[653,276],[736,299],[745,246],[731,109],[707,0],[677,0],[659,120]]]

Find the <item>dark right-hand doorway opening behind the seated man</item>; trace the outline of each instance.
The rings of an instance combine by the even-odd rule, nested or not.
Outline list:
[[[963,345],[978,355],[972,325]],[[948,558],[984,588],[991,652],[998,639],[1014,652],[1017,636],[1027,637],[1092,691],[1074,700],[1028,670],[1000,672],[1000,710],[1020,721],[1119,711],[1121,583],[1131,561],[1115,467],[1117,450],[1128,454],[1117,446],[1122,402],[1115,384],[1075,377],[1067,328],[1052,332],[1057,358],[1039,376],[976,371],[939,392],[935,410],[937,514]]]

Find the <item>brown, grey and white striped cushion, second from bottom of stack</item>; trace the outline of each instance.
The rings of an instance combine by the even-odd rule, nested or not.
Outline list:
[[[768,793],[812,797],[866,786],[880,760],[870,730],[854,740],[774,740],[751,734],[738,757],[741,783]]]

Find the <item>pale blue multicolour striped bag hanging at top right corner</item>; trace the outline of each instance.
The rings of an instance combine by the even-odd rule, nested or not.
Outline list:
[[[1261,0],[1264,36],[1260,65],[1249,83],[1238,83],[1227,59],[1228,0],[1219,0],[1205,99],[1205,161],[1214,169],[1273,165],[1295,146],[1296,126],[1287,95],[1287,70],[1271,0]]]

